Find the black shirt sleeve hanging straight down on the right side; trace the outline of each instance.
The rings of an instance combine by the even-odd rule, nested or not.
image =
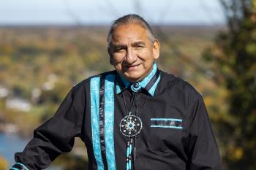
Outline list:
[[[221,170],[217,142],[202,96],[198,98],[193,112],[189,128],[189,169]]]

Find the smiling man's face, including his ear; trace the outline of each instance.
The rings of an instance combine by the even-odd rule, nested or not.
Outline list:
[[[129,82],[143,80],[159,58],[159,42],[151,42],[145,28],[138,24],[118,26],[108,47],[110,63]]]

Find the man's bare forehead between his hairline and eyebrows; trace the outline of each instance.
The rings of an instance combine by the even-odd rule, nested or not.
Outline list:
[[[131,40],[145,41],[146,39],[149,39],[146,28],[143,28],[143,26],[136,23],[118,26],[113,31],[112,35],[112,41],[114,43],[127,42]]]

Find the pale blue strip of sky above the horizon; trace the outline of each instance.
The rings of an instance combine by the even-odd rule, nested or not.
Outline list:
[[[0,25],[105,24],[138,13],[150,23],[224,23],[219,0],[0,0]]]

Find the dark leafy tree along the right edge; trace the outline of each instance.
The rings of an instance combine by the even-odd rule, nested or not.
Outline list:
[[[228,110],[217,125],[225,169],[256,167],[256,1],[220,0],[227,29],[204,53],[219,85],[227,90]]]

